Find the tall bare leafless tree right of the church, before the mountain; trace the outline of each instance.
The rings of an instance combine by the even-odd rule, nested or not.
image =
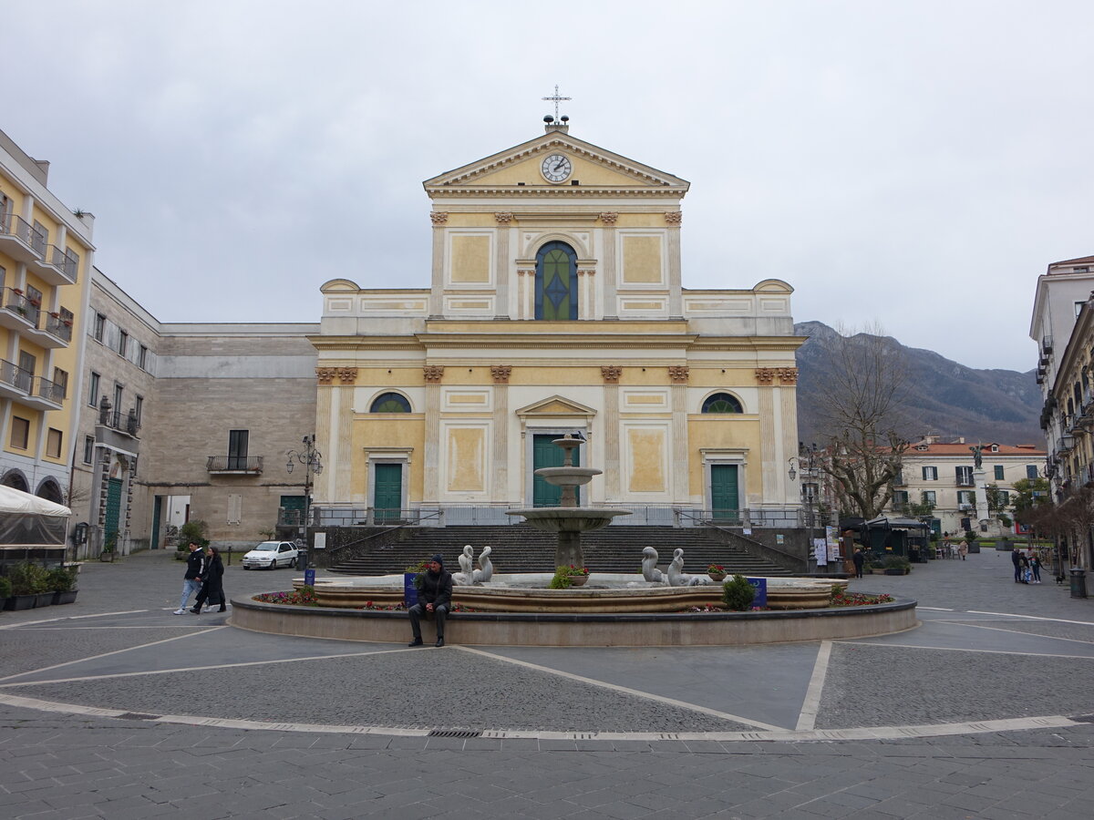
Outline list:
[[[834,367],[818,386],[818,422],[827,437],[824,471],[841,508],[869,520],[893,496],[908,448],[897,429],[905,367],[899,347],[877,326],[858,333],[838,328],[825,343]]]

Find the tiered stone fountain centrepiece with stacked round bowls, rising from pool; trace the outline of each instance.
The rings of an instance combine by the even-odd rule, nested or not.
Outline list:
[[[562,488],[562,497],[557,507],[534,507],[532,509],[510,509],[505,515],[523,515],[533,527],[544,532],[558,534],[558,547],[555,549],[555,566],[584,566],[585,559],[581,552],[581,534],[601,529],[612,523],[617,515],[630,515],[629,509],[608,509],[606,507],[579,507],[579,487],[584,487],[600,476],[603,470],[594,467],[574,467],[573,449],[580,447],[583,438],[574,438],[567,433],[556,438],[552,444],[562,448],[561,467],[542,467],[536,470],[549,484]]]

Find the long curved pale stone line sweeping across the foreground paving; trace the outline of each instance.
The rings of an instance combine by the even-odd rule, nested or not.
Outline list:
[[[627,690],[624,690],[627,691]],[[34,698],[21,698],[0,692],[0,704],[33,708],[40,712],[110,717],[140,723],[182,724],[186,726],[209,726],[230,729],[255,729],[264,731],[295,731],[323,735],[384,735],[397,737],[428,737],[433,729],[408,729],[393,726],[354,726],[305,723],[268,723],[238,718],[200,717],[197,715],[153,715],[140,714],[119,708],[101,708],[74,703],[55,703]],[[948,737],[997,731],[1020,731],[1023,729],[1067,728],[1085,725],[1062,715],[1040,715],[1037,717],[1005,718],[1001,721],[973,721],[953,724],[922,724],[917,726],[869,726],[850,729],[780,729],[769,731],[533,731],[533,730],[489,730],[480,737],[490,739],[536,739],[536,740],[712,740],[715,742],[771,741],[771,740],[892,740],[924,737]]]

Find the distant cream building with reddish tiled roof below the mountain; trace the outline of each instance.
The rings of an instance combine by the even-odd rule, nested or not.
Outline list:
[[[977,446],[980,470],[976,468],[973,452]],[[1001,535],[1005,528],[999,524],[997,513],[1006,513],[1015,492],[1014,483],[1037,478],[1044,462],[1044,448],[1033,444],[973,444],[964,438],[942,442],[928,435],[905,452],[901,472],[893,482],[888,509],[907,514],[910,503],[929,502],[934,507],[931,527],[940,535],[968,529]],[[988,508],[989,488],[996,490],[1001,507],[998,511]]]

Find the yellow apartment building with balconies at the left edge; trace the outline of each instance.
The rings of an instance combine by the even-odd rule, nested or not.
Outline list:
[[[0,131],[0,483],[67,503],[94,218]]]

